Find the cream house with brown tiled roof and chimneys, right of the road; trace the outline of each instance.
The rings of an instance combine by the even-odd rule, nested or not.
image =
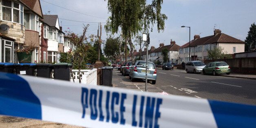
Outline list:
[[[225,54],[241,53],[245,51],[245,42],[231,37],[221,30],[215,29],[214,35],[200,38],[194,35],[194,40],[190,42],[190,58],[191,60],[203,61],[209,59],[208,50],[222,47]],[[189,42],[181,46],[179,49],[179,64],[189,61]]]

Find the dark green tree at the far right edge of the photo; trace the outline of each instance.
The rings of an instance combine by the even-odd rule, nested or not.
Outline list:
[[[256,51],[256,24],[253,23],[245,39],[245,51]]]

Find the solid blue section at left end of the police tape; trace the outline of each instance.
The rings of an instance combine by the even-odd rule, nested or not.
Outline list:
[[[0,115],[42,119],[40,100],[18,75],[0,72]]]

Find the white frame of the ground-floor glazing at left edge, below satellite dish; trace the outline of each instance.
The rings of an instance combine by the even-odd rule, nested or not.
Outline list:
[[[2,41],[4,41],[4,60],[2,60]],[[11,44],[6,44],[6,41],[11,42]],[[5,48],[11,48],[11,63],[13,63],[14,58],[14,42],[10,40],[0,40],[0,62],[5,62]]]

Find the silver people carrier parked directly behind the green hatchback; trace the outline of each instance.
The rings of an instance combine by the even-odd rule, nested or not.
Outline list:
[[[185,70],[187,73],[190,73],[190,72],[201,73],[203,72],[204,67],[205,67],[205,64],[201,61],[190,61],[186,63]]]

